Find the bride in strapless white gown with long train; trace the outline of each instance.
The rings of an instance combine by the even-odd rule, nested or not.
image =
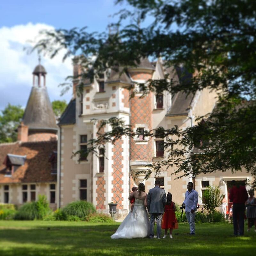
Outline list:
[[[140,183],[138,188],[138,191],[129,196],[129,200],[135,198],[133,211],[128,213],[116,233],[111,236],[112,239],[147,237],[149,235],[149,220],[146,210],[148,195],[145,193],[143,183]]]

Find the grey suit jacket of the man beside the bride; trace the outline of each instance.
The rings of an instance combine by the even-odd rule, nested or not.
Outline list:
[[[164,189],[156,186],[148,191],[149,213],[164,213],[164,204],[167,202]]]

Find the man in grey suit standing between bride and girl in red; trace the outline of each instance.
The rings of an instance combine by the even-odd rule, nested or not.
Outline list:
[[[161,222],[164,213],[164,204],[167,202],[164,189],[160,188],[160,180],[155,181],[155,188],[148,191],[148,212],[150,213],[149,238],[154,237],[156,219],[156,237],[161,238]]]

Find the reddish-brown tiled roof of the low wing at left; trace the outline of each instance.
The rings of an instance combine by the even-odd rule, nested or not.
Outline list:
[[[16,142],[0,144],[0,184],[56,182],[56,175],[52,175],[52,164],[49,157],[57,150],[57,141]],[[23,165],[19,166],[12,177],[5,177],[6,166],[4,160],[7,154],[26,156]]]

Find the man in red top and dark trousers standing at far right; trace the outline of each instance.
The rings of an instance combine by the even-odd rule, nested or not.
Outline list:
[[[238,226],[239,226],[239,235],[244,235],[244,211],[245,211],[245,202],[248,199],[248,194],[246,188],[241,186],[239,183],[236,183],[235,180],[231,181],[232,188],[229,192],[229,200],[233,202],[233,227],[234,235],[238,235]],[[239,225],[237,225],[239,223]]]

